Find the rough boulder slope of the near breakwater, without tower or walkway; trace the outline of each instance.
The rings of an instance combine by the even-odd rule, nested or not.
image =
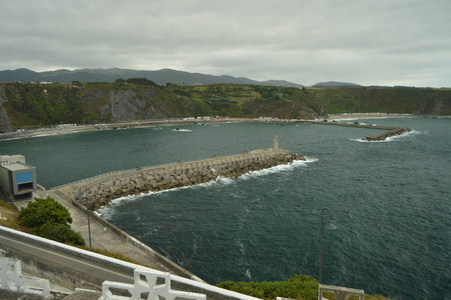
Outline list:
[[[249,171],[257,171],[280,164],[305,160],[304,156],[286,150],[255,150],[244,154],[213,157],[194,162],[137,168],[135,171],[97,178],[86,184],[90,209],[108,205],[122,196],[139,195],[216,180],[219,176],[237,178]]]

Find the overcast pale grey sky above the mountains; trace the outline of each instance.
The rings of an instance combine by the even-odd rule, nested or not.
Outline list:
[[[451,0],[0,0],[0,70],[451,86]]]

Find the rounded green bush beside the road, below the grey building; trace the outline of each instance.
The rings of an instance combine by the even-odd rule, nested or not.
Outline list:
[[[31,233],[41,237],[69,245],[85,244],[82,236],[70,228],[72,217],[67,208],[49,196],[29,202],[20,210],[18,220]]]

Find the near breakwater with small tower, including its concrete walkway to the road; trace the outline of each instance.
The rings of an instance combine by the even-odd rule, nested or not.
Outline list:
[[[275,134],[273,147],[269,149],[112,172],[51,189],[42,188],[35,191],[34,196],[49,196],[64,205],[73,218],[71,228],[80,232],[85,241],[89,240],[90,245],[92,241],[93,248],[119,252],[153,269],[203,282],[196,275],[108,222],[96,210],[110,205],[111,200],[120,197],[200,184],[216,180],[219,176],[236,178],[249,171],[287,164],[294,160],[305,160],[305,157],[279,149],[278,135]],[[80,192],[82,197],[78,197]],[[15,204],[24,207],[30,200]]]

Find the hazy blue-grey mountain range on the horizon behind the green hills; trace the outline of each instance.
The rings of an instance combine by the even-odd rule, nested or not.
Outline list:
[[[61,82],[72,83],[81,82],[114,82],[116,79],[147,78],[159,85],[167,83],[177,83],[183,85],[208,85],[214,83],[237,83],[255,84],[267,86],[303,87],[302,84],[288,82],[285,80],[256,81],[246,77],[233,77],[228,75],[207,75],[201,73],[189,73],[172,69],[162,69],[158,71],[144,71],[131,69],[77,69],[56,71],[35,72],[29,69],[0,71],[0,82]],[[320,82],[313,87],[358,87],[359,85],[344,82]]]

